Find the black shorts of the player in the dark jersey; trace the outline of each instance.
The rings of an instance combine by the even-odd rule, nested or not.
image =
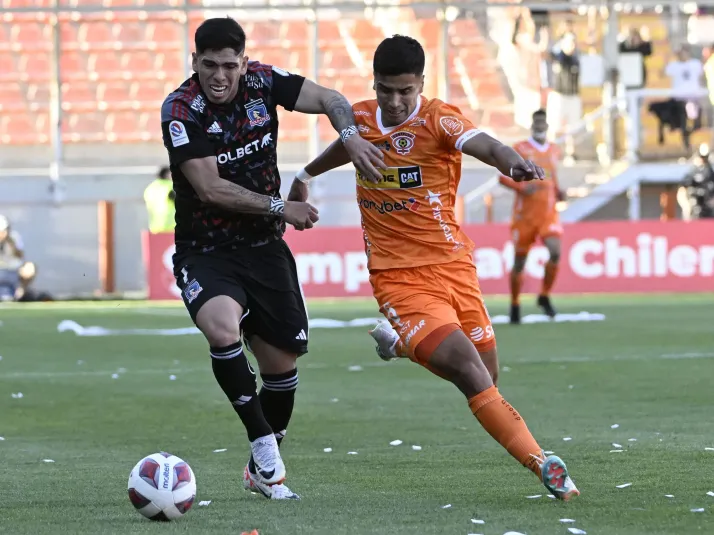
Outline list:
[[[307,353],[307,310],[295,259],[283,240],[235,251],[177,254],[174,276],[194,323],[206,301],[227,295],[243,307],[241,328],[248,341],[258,335],[278,349]]]

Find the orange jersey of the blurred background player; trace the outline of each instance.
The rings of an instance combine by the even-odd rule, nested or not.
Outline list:
[[[521,141],[513,148],[523,159],[532,160],[545,171],[543,181],[517,183],[509,177],[501,176],[501,183],[516,191],[516,198],[513,202],[513,221],[542,221],[555,212],[560,151],[555,145],[548,143],[541,145],[533,139]],[[538,188],[537,191],[531,195],[521,193],[527,184],[533,184]]]

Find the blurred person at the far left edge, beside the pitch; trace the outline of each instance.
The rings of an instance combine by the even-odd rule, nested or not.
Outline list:
[[[35,274],[35,265],[25,261],[20,234],[0,215],[0,300],[29,300],[27,288]]]

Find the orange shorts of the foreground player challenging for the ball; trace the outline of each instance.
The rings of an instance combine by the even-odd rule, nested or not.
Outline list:
[[[470,254],[446,264],[375,271],[369,281],[380,311],[415,362],[426,364],[458,329],[480,352],[496,346]]]

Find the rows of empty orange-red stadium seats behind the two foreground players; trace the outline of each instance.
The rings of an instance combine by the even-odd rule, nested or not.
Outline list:
[[[2,7],[40,8],[50,3],[0,0]],[[78,0],[69,3],[82,4]],[[144,2],[148,3],[152,2]],[[102,5],[137,3],[103,0]],[[401,13],[409,33],[425,45],[428,73],[432,74],[426,93],[436,95],[439,22],[419,20],[411,10]],[[157,115],[161,101],[188,72],[189,58],[183,57],[182,17],[182,13],[168,11],[74,12],[60,16],[64,143],[160,141]],[[203,18],[201,12],[189,14],[188,35],[193,35]],[[304,21],[248,21],[244,26],[250,56],[311,75],[309,26]],[[371,52],[388,33],[389,29],[364,19],[320,20],[318,82],[336,88],[351,100],[372,97]],[[457,73],[450,77],[451,100],[483,126],[510,126],[508,93],[476,22],[454,21],[449,42],[449,69]],[[52,59],[49,15],[0,16],[0,141],[4,145],[49,142]],[[281,112],[281,121],[287,126],[283,139],[307,139],[305,116]],[[318,124],[323,140],[334,137],[326,118],[321,117]]]

